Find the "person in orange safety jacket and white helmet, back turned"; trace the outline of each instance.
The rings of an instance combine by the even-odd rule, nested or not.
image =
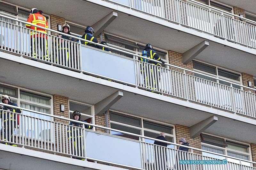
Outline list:
[[[42,13],[43,11],[41,10],[38,11],[36,8],[32,8],[30,10],[30,15],[28,16],[27,22],[31,24],[35,24],[37,26],[48,28],[47,20],[42,15]],[[45,35],[46,30],[43,28],[38,28],[36,26],[31,26],[29,24],[26,24],[26,27],[31,29],[30,31],[31,56],[34,58],[37,58],[36,53],[38,51],[38,54],[40,54],[40,50],[41,50],[41,54],[44,56],[44,59],[46,59],[47,61],[51,61],[51,58],[50,57],[48,58],[47,36]],[[40,44],[39,47],[38,47],[38,44]],[[38,59],[42,59],[42,57],[40,56],[40,58]]]

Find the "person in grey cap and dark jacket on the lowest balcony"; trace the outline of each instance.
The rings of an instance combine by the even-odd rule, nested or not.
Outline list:
[[[186,142],[186,140],[185,140],[184,137],[181,138],[179,142],[180,142],[181,145],[189,146],[189,143]],[[182,147],[182,146],[179,147],[179,150],[180,150],[180,151],[188,152],[188,149],[189,149],[189,148],[187,148],[187,147]],[[180,167],[180,170],[183,170],[183,167],[185,167],[185,169],[188,169],[188,165],[181,165],[180,162],[179,162],[179,160],[188,159],[185,152],[178,152],[178,154],[177,154],[177,161],[176,161],[176,164],[177,164],[177,166]],[[175,166],[175,168],[176,168],[176,166]],[[185,169],[184,169],[184,170],[185,170]]]

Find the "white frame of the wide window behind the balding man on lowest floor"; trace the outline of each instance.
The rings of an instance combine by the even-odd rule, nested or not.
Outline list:
[[[129,114],[129,113],[120,112],[120,111],[117,111],[117,110],[114,110],[114,109],[109,109],[109,111],[116,112],[116,113],[120,113],[120,114],[122,114],[122,115],[132,116],[132,117],[134,117],[134,118],[140,119],[140,121],[141,121],[141,127],[137,127],[137,126],[128,125],[128,124],[125,124],[125,123],[115,122],[115,121],[109,120],[109,122],[110,122],[110,128],[111,128],[111,123],[114,123],[114,124],[122,125],[122,126],[125,126],[125,127],[133,128],[133,129],[139,129],[139,130],[141,131],[141,135],[142,135],[142,136],[144,136],[144,130],[146,130],[146,131],[148,131],[148,132],[156,133],[156,134],[158,134],[158,135],[161,133],[160,131],[156,131],[156,130],[144,128],[144,127],[143,127],[143,120],[144,120],[144,121],[148,121],[148,122],[157,123],[157,124],[161,124],[161,125],[165,125],[165,126],[170,126],[170,127],[172,127],[172,128],[173,128],[173,129],[172,129],[173,135],[172,135],[172,134],[169,134],[169,133],[165,133],[165,135],[168,136],[168,137],[172,137],[174,143],[175,143],[175,141],[176,141],[175,126],[174,126],[173,124],[169,124],[169,123],[165,123],[165,122],[160,122],[160,121],[156,121],[156,120],[152,120],[152,119],[148,119],[148,118],[144,118],[144,117],[139,117],[139,116],[132,115],[132,114]],[[145,141],[145,139],[143,139],[143,141]],[[177,149],[176,145],[174,145],[174,148]]]

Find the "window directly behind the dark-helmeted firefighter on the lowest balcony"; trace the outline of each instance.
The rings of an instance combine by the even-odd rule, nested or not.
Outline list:
[[[73,119],[72,114],[76,110],[81,113],[81,120],[86,121],[88,123],[93,123],[92,106],[69,100],[69,118],[70,119]]]

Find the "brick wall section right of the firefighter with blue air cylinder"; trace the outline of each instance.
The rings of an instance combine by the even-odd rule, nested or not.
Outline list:
[[[168,58],[169,58],[169,63],[172,65],[176,65],[185,69],[193,70],[193,62],[189,62],[188,64],[184,64],[182,60],[182,54],[177,53],[175,51],[168,51]],[[170,67],[170,69],[175,70],[175,71],[180,71],[183,72],[181,69],[177,69],[175,67]],[[187,71],[186,71],[187,72]],[[191,72],[187,72],[190,75],[193,75]]]

